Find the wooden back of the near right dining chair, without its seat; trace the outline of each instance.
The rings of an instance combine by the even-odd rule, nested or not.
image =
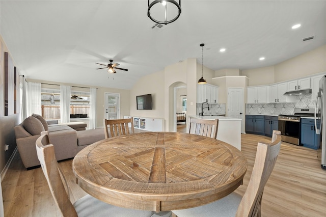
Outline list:
[[[281,139],[281,132],[274,130],[270,144],[258,143],[251,178],[236,216],[260,216],[264,187],[276,164],[281,148]]]

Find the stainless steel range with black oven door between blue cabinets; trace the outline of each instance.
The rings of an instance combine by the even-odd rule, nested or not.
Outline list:
[[[294,115],[279,115],[282,141],[300,145],[301,118],[313,117],[314,108],[294,108]]]

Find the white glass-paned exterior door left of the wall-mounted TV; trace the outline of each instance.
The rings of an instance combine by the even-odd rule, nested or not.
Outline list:
[[[120,94],[105,93],[105,114],[106,119],[120,119]]]

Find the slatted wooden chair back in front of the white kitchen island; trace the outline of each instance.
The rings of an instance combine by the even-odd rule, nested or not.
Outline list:
[[[191,117],[189,122],[189,133],[216,139],[216,135],[218,135],[219,119],[207,120]]]

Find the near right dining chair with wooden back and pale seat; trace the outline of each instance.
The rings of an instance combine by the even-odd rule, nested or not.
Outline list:
[[[280,147],[281,132],[279,130],[273,131],[271,143],[258,143],[251,178],[242,198],[240,195],[233,192],[210,204],[189,209],[173,210],[173,213],[178,217],[260,216],[264,187],[271,172],[273,172]]]

